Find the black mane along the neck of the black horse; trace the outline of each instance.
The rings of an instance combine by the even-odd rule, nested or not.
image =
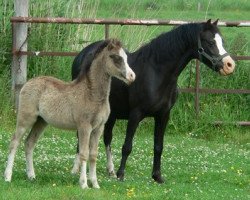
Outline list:
[[[136,52],[142,56],[143,60],[153,56],[158,63],[164,60],[175,59],[180,53],[185,52],[188,46],[197,44],[198,34],[204,28],[204,25],[205,23],[180,25],[152,39]],[[217,27],[214,26],[212,31],[218,32]]]

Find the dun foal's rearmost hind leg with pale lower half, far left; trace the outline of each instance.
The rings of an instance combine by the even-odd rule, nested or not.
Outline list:
[[[18,116],[16,132],[14,133],[12,140],[10,142],[9,156],[8,156],[7,166],[4,172],[5,181],[8,182],[11,181],[17,147],[19,146],[20,140],[22,139],[24,133],[27,132],[32,127],[35,120],[36,116],[29,116],[28,118],[26,117],[26,115]]]

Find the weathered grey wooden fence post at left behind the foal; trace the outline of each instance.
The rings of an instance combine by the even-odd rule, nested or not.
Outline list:
[[[15,0],[14,9],[16,17],[28,17],[29,0]],[[13,46],[12,50],[27,51],[27,23],[13,23]],[[18,98],[23,84],[27,80],[27,56],[13,54],[12,59],[12,96],[15,108],[18,108]]]

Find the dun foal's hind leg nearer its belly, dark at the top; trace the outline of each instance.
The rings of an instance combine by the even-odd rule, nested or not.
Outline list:
[[[35,178],[35,171],[33,166],[33,151],[36,142],[38,141],[46,126],[47,123],[41,117],[38,117],[28,137],[25,140],[26,173],[29,179]]]

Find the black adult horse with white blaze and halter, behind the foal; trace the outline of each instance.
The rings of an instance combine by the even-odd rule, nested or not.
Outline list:
[[[231,74],[235,63],[223,48],[217,21],[211,23],[190,23],[163,33],[137,51],[128,54],[128,63],[136,73],[135,82],[127,86],[113,79],[110,93],[111,114],[105,125],[104,143],[107,153],[107,168],[114,173],[111,155],[112,129],[116,119],[127,119],[127,130],[122,147],[122,159],[117,171],[119,179],[124,178],[127,158],[132,151],[136,128],[145,117],[153,117],[154,162],[152,178],[164,182],[161,176],[161,155],[163,138],[169,120],[170,110],[177,98],[177,79],[192,59],[199,59],[205,65],[222,75]],[[102,41],[90,44],[75,58],[72,78],[80,72],[81,63]]]

